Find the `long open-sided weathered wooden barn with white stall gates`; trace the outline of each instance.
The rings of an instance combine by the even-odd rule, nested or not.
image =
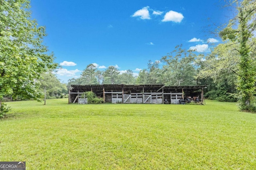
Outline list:
[[[165,86],[163,84],[126,85],[126,84],[96,84],[69,86],[68,103],[86,104],[84,92],[92,91],[104,102],[137,103],[137,104],[180,104],[180,99],[187,97],[204,100],[206,86]]]

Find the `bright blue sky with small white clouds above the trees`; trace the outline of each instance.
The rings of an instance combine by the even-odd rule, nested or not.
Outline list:
[[[180,44],[208,53],[221,41],[209,25],[228,21],[219,0],[31,0],[31,6],[62,65],[56,73],[62,82],[90,63],[136,75]]]

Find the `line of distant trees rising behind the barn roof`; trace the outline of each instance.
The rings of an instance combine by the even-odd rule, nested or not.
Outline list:
[[[176,49],[162,57],[159,61],[148,61],[148,68],[140,70],[138,76],[132,70],[120,74],[116,66],[109,66],[104,71],[98,70],[94,64],[88,64],[79,78],[68,80],[71,84],[166,84],[168,86],[196,85],[197,66],[194,51]]]

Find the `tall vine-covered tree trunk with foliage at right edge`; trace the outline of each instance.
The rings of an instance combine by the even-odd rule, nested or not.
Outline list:
[[[234,19],[230,20],[226,28],[220,32],[220,36],[226,40],[230,39],[238,44],[236,51],[239,53],[238,78],[236,82],[237,90],[240,94],[239,106],[242,110],[256,111],[254,95],[256,94],[256,62],[252,51],[256,31],[256,1],[255,0],[235,0],[232,4],[237,4],[238,12]]]

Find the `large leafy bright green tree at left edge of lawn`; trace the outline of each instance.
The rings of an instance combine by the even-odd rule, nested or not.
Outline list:
[[[31,18],[29,0],[1,0],[0,20],[0,98],[40,101],[40,74],[56,67],[43,45],[45,27]]]

